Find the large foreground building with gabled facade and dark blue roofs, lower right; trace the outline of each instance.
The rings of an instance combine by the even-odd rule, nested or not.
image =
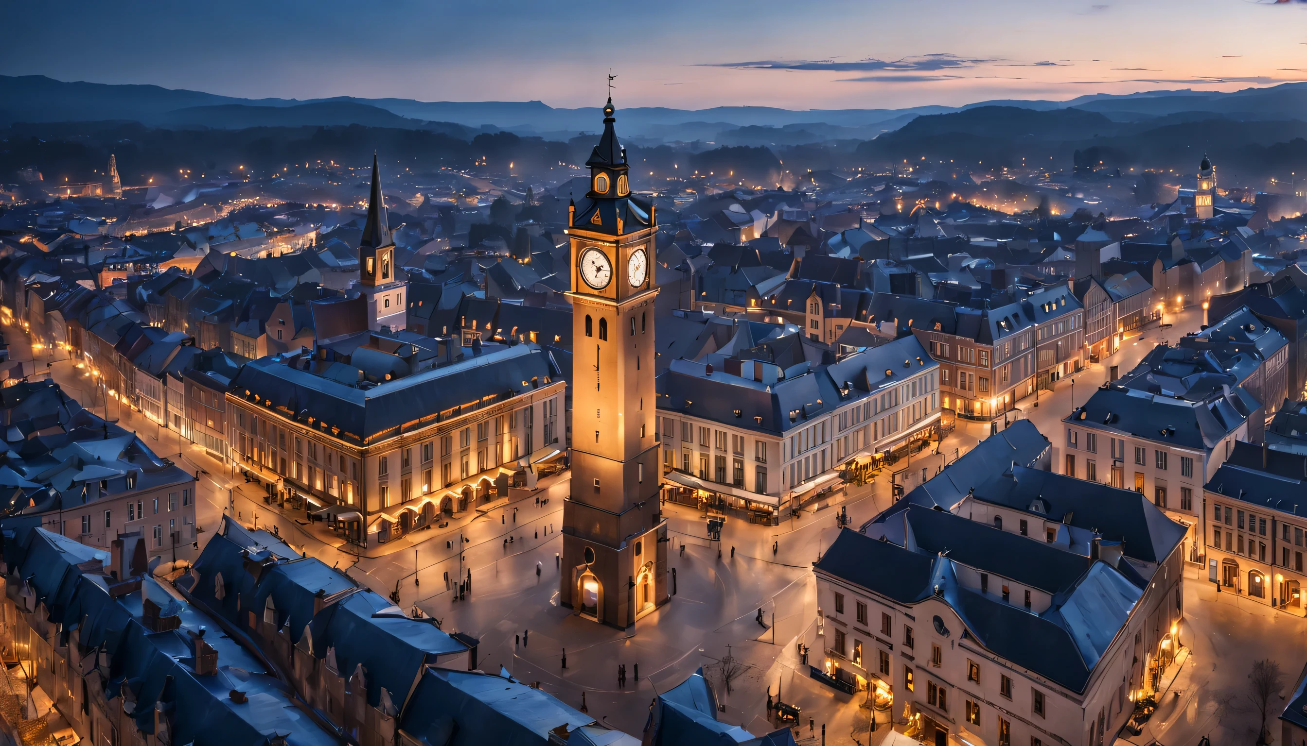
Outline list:
[[[1072,482],[1017,466],[955,512],[906,499],[842,530],[814,564],[813,677],[874,691],[923,742],[1112,737],[1179,643],[1184,528]],[[1082,510],[1097,525],[1072,520]]]

